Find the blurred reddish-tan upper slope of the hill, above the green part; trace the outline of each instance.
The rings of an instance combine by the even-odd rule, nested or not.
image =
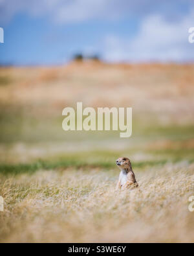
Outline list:
[[[194,65],[71,62],[60,67],[1,67],[1,110],[61,115],[66,106],[133,107],[162,122],[192,122]],[[143,115],[144,116],[144,115]]]

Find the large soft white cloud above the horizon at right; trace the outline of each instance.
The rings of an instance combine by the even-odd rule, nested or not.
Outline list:
[[[194,60],[194,45],[188,43],[188,29],[193,27],[194,10],[175,23],[164,17],[149,16],[132,39],[106,36],[103,53],[111,61],[181,62]]]

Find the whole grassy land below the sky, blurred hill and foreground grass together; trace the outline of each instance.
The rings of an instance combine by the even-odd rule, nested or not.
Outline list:
[[[194,242],[194,65],[0,68],[0,242]],[[64,132],[63,108],[133,107],[133,135]],[[138,189],[116,192],[119,156]]]

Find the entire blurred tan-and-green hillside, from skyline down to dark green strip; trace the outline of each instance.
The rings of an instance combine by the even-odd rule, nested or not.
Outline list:
[[[150,149],[169,157],[170,150],[173,157],[186,159],[194,146],[193,84],[194,65],[83,60],[58,67],[1,67],[0,160],[102,149],[126,149],[126,155],[130,151],[138,159],[149,159],[145,152]],[[62,110],[76,108],[77,102],[133,107],[133,135],[122,139],[117,131],[63,131]]]

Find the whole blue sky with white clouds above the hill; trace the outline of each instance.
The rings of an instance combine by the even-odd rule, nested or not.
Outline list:
[[[81,52],[108,62],[193,62],[191,0],[0,0],[0,64],[55,65]]]

